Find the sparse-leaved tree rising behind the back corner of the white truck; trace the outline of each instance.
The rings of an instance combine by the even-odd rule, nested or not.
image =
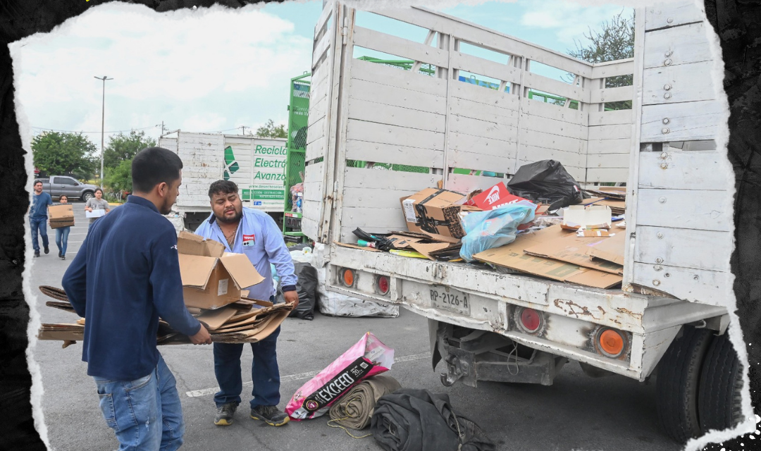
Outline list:
[[[617,59],[634,57],[634,14],[625,17],[624,10],[613,16],[610,21],[604,21],[600,25],[600,31],[589,29],[584,33],[584,38],[589,41],[586,46],[575,40],[576,49],[568,50],[568,55],[588,62],[608,62]],[[575,76],[568,74],[568,81]],[[619,75],[605,79],[605,87],[621,87],[632,85],[632,75]],[[607,109],[629,110],[632,108],[631,100],[612,102],[605,104]]]

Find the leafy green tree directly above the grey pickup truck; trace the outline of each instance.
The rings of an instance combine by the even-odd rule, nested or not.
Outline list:
[[[32,138],[34,166],[47,175],[90,179],[97,173],[97,148],[81,133],[43,132]]]

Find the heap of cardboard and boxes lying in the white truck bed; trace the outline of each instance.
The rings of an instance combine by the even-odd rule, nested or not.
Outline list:
[[[462,262],[463,215],[511,203],[533,205],[534,219],[517,227],[515,240],[476,253],[477,262],[499,272],[517,272],[587,287],[613,288],[622,282],[626,246],[626,188],[601,186],[585,190],[580,205],[549,212],[549,205],[512,195],[505,183],[466,195],[424,189],[401,199],[407,231],[372,234],[355,230],[357,243],[337,246],[391,252],[442,262]],[[618,218],[616,218],[618,217]]]

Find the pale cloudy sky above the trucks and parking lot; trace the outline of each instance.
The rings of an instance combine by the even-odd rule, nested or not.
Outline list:
[[[99,146],[102,81],[94,77],[106,75],[113,78],[106,82],[107,135],[143,129],[158,137],[162,121],[167,129],[228,133],[242,125],[256,129],[267,119],[285,123],[288,81],[310,68],[321,3],[163,14],[126,3],[91,8],[51,33],[11,43],[20,113],[33,133],[81,131]],[[575,48],[587,27],[622,11],[616,5],[537,3],[439,8],[561,52]],[[358,24],[387,26],[371,14],[358,16]],[[425,30],[419,36],[414,27],[395,34],[425,39]]]

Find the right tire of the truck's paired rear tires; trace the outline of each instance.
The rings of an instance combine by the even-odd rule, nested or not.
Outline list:
[[[703,432],[737,426],[742,419],[743,372],[729,334],[714,338],[700,374],[698,402]]]

